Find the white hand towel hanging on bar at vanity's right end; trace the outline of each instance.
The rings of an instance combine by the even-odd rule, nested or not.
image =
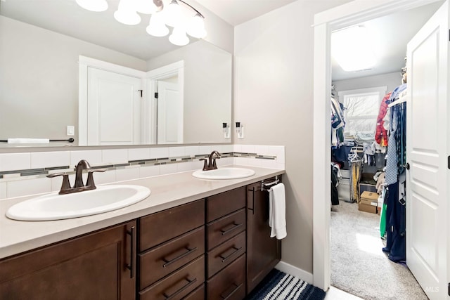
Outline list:
[[[286,237],[286,200],[283,183],[274,185],[269,190],[269,226],[270,237],[281,240]]]

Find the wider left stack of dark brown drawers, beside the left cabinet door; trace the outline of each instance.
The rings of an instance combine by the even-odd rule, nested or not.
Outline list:
[[[140,218],[138,266],[139,299],[204,299],[205,200]]]

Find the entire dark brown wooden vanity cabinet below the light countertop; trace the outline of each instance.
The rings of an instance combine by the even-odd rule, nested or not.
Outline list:
[[[268,218],[260,182],[159,211],[1,259],[0,299],[242,300],[281,258]]]

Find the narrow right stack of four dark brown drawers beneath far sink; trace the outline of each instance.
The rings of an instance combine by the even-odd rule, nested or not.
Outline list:
[[[208,300],[245,297],[245,187],[207,198]]]

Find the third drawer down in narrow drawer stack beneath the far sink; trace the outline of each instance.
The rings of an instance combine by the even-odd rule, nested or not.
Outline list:
[[[212,251],[207,254],[208,278],[219,272],[222,268],[228,266],[244,252],[245,231],[236,235],[236,237],[231,238],[231,240],[224,242],[224,244],[212,249]]]

